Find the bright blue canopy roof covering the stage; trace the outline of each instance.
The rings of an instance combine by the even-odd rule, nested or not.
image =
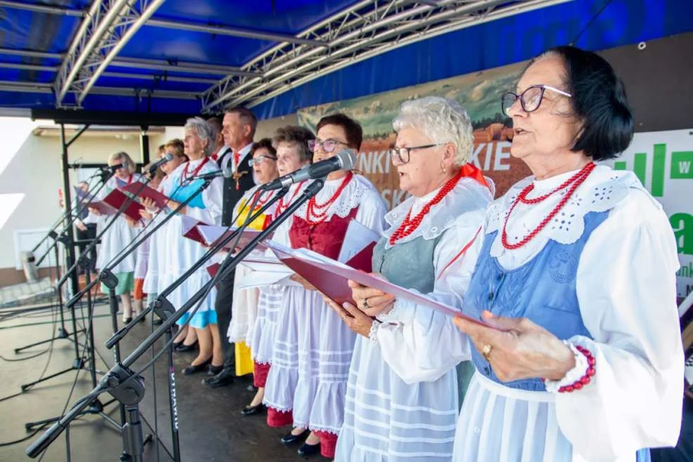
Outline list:
[[[350,8],[367,8],[370,2],[159,0],[153,14],[143,20],[131,37],[123,38],[127,31],[123,29],[115,31],[116,41],[102,40],[94,52],[101,54],[92,54],[78,67],[72,84],[65,87],[65,95],[60,97],[60,66],[70,56],[80,26],[88,20],[85,13],[97,11],[98,4],[88,0],[2,1],[0,108],[200,113],[241,101],[252,105],[261,118],[277,117],[310,105],[515,63],[559,44],[574,43],[600,50],[693,30],[690,0],[543,1],[548,6],[524,12],[522,7],[542,2],[479,1],[495,8],[509,8],[509,12],[496,20],[479,20],[478,25],[470,23],[365,59],[351,58],[353,64],[349,56],[344,56],[344,64],[333,71],[316,71],[316,77],[304,77],[296,81],[299,83],[287,78],[284,86],[268,86],[265,93],[259,89],[258,96],[247,101],[243,101],[244,92],[239,91],[216,106],[210,106],[203,94],[215,87],[219,94],[224,94],[220,82],[231,79],[225,76],[240,73],[233,84],[255,77],[259,77],[257,85],[271,81],[273,77],[259,65],[253,68],[249,63],[281,44],[286,46],[285,40],[296,39],[289,47],[304,44],[308,47],[305,50],[320,48],[320,37],[302,32]],[[408,2],[382,3],[405,8],[399,4]],[[456,8],[463,2],[428,0],[415,7],[427,6],[431,11],[444,13],[444,8],[436,9],[438,4]],[[519,13],[510,9],[515,6]],[[102,9],[101,14],[105,13]],[[481,13],[474,14],[483,18]],[[99,58],[108,56],[119,41],[121,48],[93,77]],[[328,41],[322,43],[321,50],[333,49]],[[361,46],[369,45],[364,41]],[[301,56],[287,69],[301,66]],[[306,57],[305,62],[310,63],[311,59],[314,58]],[[244,72],[247,75],[242,75]],[[83,93],[92,77],[91,86]],[[262,95],[266,96],[260,98]]]

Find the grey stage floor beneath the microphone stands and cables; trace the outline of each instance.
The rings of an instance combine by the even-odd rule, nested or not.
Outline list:
[[[0,315],[4,314],[0,311]],[[96,357],[98,371],[107,371],[113,363],[112,352],[103,344],[111,333],[108,306],[100,304],[96,307],[95,332],[96,346],[101,357]],[[31,324],[31,325],[30,325]],[[67,326],[72,332],[72,326]],[[14,349],[32,342],[50,338],[53,326],[50,314],[22,317],[0,323],[0,354],[6,359],[30,356],[46,349],[40,345],[15,355]],[[150,319],[136,326],[127,335],[122,345],[123,357],[129,354],[150,333]],[[84,335],[79,335],[79,341],[84,342]],[[162,343],[157,344],[157,351]],[[75,357],[72,342],[56,340],[53,354],[46,370],[46,376],[56,373],[72,365]],[[151,354],[145,354],[136,368],[141,368]],[[194,353],[175,354],[176,388],[178,396],[178,413],[181,441],[181,459],[183,461],[299,461],[295,447],[287,448],[280,444],[279,439],[287,429],[272,429],[265,424],[264,415],[243,417],[240,409],[250,402],[253,393],[247,390],[250,378],[236,380],[233,385],[210,390],[202,385],[205,374],[183,376],[181,371],[193,359]],[[48,353],[19,362],[0,361],[0,397],[19,392],[20,385],[38,378],[46,366]],[[105,364],[108,363],[108,366]],[[164,354],[155,364],[155,380],[149,369],[145,377],[146,394],[141,403],[141,413],[150,423],[155,425],[154,385],[157,390],[157,412],[159,436],[161,444],[171,450],[171,432],[169,406],[167,401],[167,356]],[[70,371],[57,378],[52,378],[36,385],[18,397],[0,402],[0,440],[13,441],[27,436],[24,423],[40,421],[44,418],[57,416],[63,411],[67,394],[75,380],[76,372]],[[89,372],[81,371],[75,391],[70,399],[70,405],[91,391]],[[105,395],[103,402],[110,395]],[[105,409],[109,416],[119,421],[117,406],[110,405]],[[144,425],[144,434],[152,431]],[[41,435],[39,432],[27,442],[0,447],[0,461],[29,461],[25,449]],[[70,447],[72,461],[117,461],[122,451],[122,439],[119,433],[106,423],[100,416],[85,416],[75,421],[70,428]],[[145,448],[145,461],[157,461],[155,444]],[[65,433],[53,442],[43,458],[44,462],[66,461]],[[164,447],[160,447],[160,461],[171,460]],[[324,461],[319,456],[316,461]]]

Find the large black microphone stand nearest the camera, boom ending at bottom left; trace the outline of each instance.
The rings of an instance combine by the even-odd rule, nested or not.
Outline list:
[[[325,181],[322,179],[317,179],[313,183],[306,186],[301,197],[298,198],[294,203],[292,203],[283,214],[280,214],[269,226],[261,231],[250,243],[248,243],[245,248],[240,250],[237,255],[229,254],[224,262],[222,262],[219,272],[215,278],[202,285],[200,290],[193,295],[193,297],[188,300],[183,306],[172,313],[159,328],[152,334],[145,338],[145,340],[131,353],[129,356],[121,363],[115,364],[108,373],[101,378],[99,384],[94,387],[94,389],[86,395],[83,399],[80,399],[72,409],[60,419],[60,421],[53,424],[46,432],[44,432],[39,439],[37,439],[30,447],[26,449],[27,456],[31,458],[36,458],[41,452],[43,452],[46,447],[48,447],[51,442],[53,442],[62,433],[67,425],[74,420],[79,413],[81,413],[87,406],[89,406],[94,400],[98,398],[98,395],[103,392],[109,392],[115,399],[125,406],[127,412],[127,423],[124,425],[124,431],[127,431],[128,437],[128,448],[127,452],[131,456],[131,460],[134,462],[142,461],[142,426],[140,423],[138,403],[144,397],[145,387],[144,380],[141,376],[131,370],[131,366],[137,361],[148,349],[154,345],[154,343],[162,337],[167,331],[171,329],[176,321],[181,319],[191,307],[193,307],[197,302],[202,300],[209,289],[212,288],[214,283],[235,269],[236,266],[244,259],[252,250],[257,247],[257,245],[264,240],[270,233],[272,233],[280,224],[282,224],[288,217],[301,207],[307,200],[316,195]],[[231,238],[229,238],[231,240]],[[211,257],[211,255],[210,255]],[[169,340],[169,344],[171,340]],[[170,347],[170,345],[168,345]],[[171,375],[173,373],[171,372]],[[171,420],[177,424],[177,414],[171,414]]]

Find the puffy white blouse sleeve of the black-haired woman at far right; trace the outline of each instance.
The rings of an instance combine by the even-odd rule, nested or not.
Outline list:
[[[678,255],[668,219],[634,191],[592,232],[576,290],[594,340],[596,375],[556,394],[557,420],[575,451],[613,461],[645,447],[674,446],[681,424],[683,351],[676,309]]]

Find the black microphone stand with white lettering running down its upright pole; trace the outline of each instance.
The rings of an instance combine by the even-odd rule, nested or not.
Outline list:
[[[267,210],[269,207],[271,207],[274,203],[276,203],[280,198],[282,198],[286,193],[288,192],[288,188],[283,188],[281,191],[278,191],[274,197],[268,201],[261,209],[256,212],[255,214],[252,215],[252,217],[247,219],[248,223],[252,223],[257,217],[261,216],[261,214],[264,214],[265,210]],[[167,318],[169,318],[174,312],[176,312],[176,309],[173,307],[171,302],[167,300],[167,296],[173,293],[176,288],[179,287],[186,279],[188,279],[192,274],[195,273],[198,269],[203,267],[209,258],[212,257],[212,255],[215,255],[216,252],[219,252],[226,244],[231,242],[233,238],[238,236],[238,234],[242,231],[242,228],[236,229],[232,233],[230,233],[228,236],[224,236],[224,238],[219,239],[214,245],[212,245],[212,248],[207,250],[205,252],[205,255],[202,255],[200,259],[193,264],[192,267],[190,267],[188,270],[186,270],[185,273],[181,274],[179,278],[176,279],[173,283],[171,283],[167,288],[165,288],[162,293],[157,295],[156,300],[154,300],[152,303],[148,305],[146,309],[143,310],[141,314],[136,316],[130,323],[128,323],[126,326],[123,326],[120,331],[115,333],[108,341],[106,342],[106,347],[108,349],[111,349],[112,347],[116,346],[124,338],[129,331],[136,326],[140,319],[144,318],[147,316],[147,314],[151,311],[154,311],[157,316],[159,316],[162,321],[165,321]],[[206,287],[209,287],[207,285]],[[167,348],[167,353],[168,353],[168,366],[169,366],[169,411],[170,411],[170,417],[171,417],[171,442],[173,444],[173,454],[174,454],[174,462],[179,462],[181,460],[180,456],[180,443],[179,443],[179,419],[178,419],[178,404],[176,402],[176,377],[174,374],[174,360],[173,360],[173,342],[171,340],[173,339],[173,327],[171,327],[165,334],[164,337],[164,344],[169,345]]]

